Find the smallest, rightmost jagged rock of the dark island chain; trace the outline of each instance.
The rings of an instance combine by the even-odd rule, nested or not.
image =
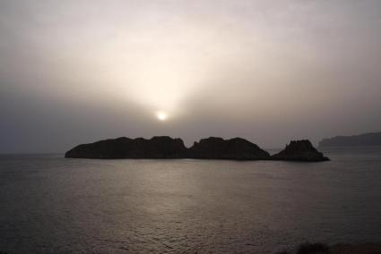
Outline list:
[[[281,152],[272,156],[273,160],[316,162],[329,160],[312,146],[309,140],[293,140]]]

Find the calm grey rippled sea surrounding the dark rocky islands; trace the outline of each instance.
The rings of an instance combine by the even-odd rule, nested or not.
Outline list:
[[[331,162],[0,157],[8,253],[272,253],[381,241],[381,148]]]

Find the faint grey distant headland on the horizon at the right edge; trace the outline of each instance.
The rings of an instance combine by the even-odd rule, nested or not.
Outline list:
[[[369,146],[381,146],[381,132],[364,133],[354,136],[337,136],[319,142],[319,148]]]

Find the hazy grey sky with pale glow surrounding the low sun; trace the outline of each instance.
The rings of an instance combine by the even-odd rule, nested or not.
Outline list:
[[[379,0],[0,0],[0,153],[365,131],[381,131]]]

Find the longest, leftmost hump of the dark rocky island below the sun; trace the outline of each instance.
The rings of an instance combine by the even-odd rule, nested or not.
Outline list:
[[[68,152],[71,158],[180,158],[184,157],[186,146],[183,140],[169,137],[153,137],[115,140],[101,140],[91,144],[79,145]]]

